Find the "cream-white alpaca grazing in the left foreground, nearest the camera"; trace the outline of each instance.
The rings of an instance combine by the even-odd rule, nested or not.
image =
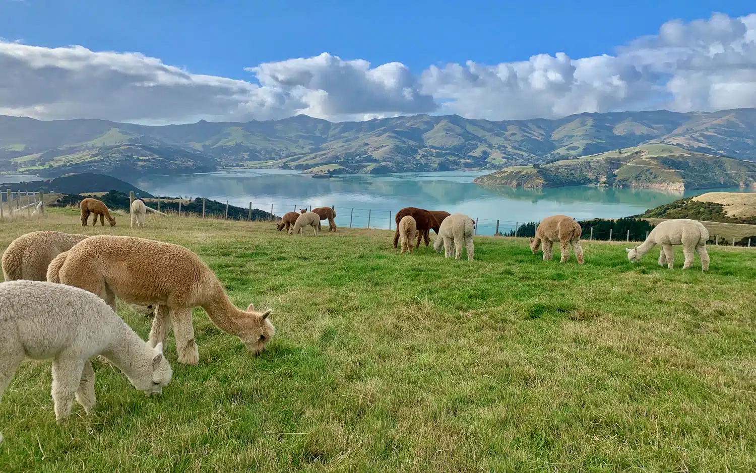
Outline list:
[[[116,365],[145,394],[171,381],[163,345],[144,342],[96,295],[42,281],[0,283],[0,396],[24,358],[52,358],[55,419],[71,413],[73,398],[90,413],[95,405],[98,354]],[[2,440],[2,435],[0,435]]]

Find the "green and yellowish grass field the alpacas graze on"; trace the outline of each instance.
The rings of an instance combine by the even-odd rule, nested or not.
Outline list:
[[[147,398],[95,364],[98,405],[56,425],[50,362],[0,402],[0,471],[756,471],[756,250],[711,270],[584,243],[586,264],[476,238],[476,261],[391,233],[288,236],[273,224],[73,210],[0,226],[180,243],[238,306],[274,308],[260,357],[194,312],[199,366]],[[146,338],[150,320],[119,314]]]

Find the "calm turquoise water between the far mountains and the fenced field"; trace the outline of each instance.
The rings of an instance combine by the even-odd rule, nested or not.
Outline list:
[[[313,178],[296,171],[229,170],[195,175],[156,176],[134,184],[163,196],[207,197],[282,215],[295,207],[336,206],[336,223],[388,227],[389,212],[407,206],[463,212],[480,218],[481,226],[495,221],[536,221],[557,213],[587,218],[618,218],[645,212],[662,204],[708,190],[665,192],[656,190],[562,187],[514,189],[482,187],[472,180],[488,172],[406,172],[391,175],[349,175]],[[723,189],[719,189],[723,190]],[[737,191],[737,189],[727,189]],[[355,209],[351,211],[350,209]],[[362,210],[356,209],[365,209]],[[490,222],[489,222],[490,221]],[[500,227],[500,230],[506,230]],[[483,230],[483,229],[481,229]],[[488,233],[488,232],[486,232]],[[493,233],[491,230],[490,233]]]

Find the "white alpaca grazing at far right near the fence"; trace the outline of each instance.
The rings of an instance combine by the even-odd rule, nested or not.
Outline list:
[[[674,263],[672,246],[682,245],[685,255],[683,269],[688,269],[693,265],[695,259],[693,254],[695,252],[698,253],[701,260],[702,271],[708,271],[709,258],[706,251],[708,236],[708,230],[699,221],[689,218],[665,220],[651,230],[649,237],[640,246],[636,246],[634,249],[625,249],[627,250],[627,259],[638,263],[640,258],[643,258],[655,245],[662,245],[662,252],[658,261],[659,266],[664,266],[666,263],[672,269]]]

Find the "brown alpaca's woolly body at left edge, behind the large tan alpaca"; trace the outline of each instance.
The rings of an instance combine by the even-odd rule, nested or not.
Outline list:
[[[2,254],[3,277],[6,281],[45,281],[50,261],[86,237],[45,230],[23,234],[13,240]]]

